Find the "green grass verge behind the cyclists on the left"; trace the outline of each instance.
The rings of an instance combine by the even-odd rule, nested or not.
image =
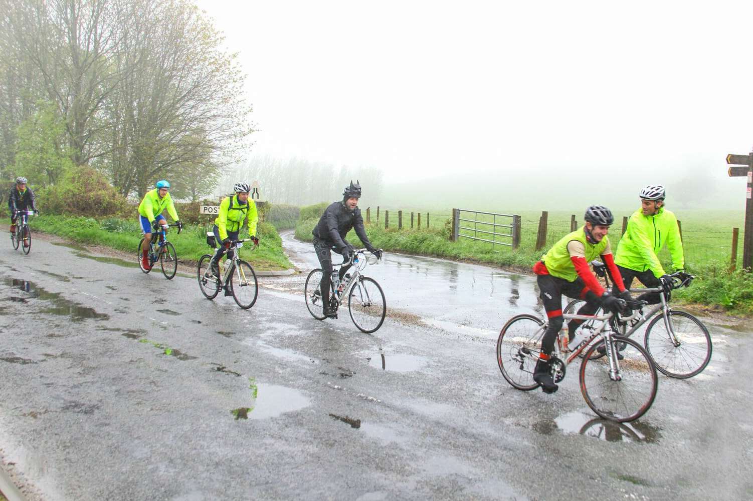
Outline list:
[[[142,239],[142,230],[136,218],[123,220],[108,217],[96,220],[93,217],[40,216],[29,221],[32,232],[35,230],[52,233],[82,244],[103,245],[124,252],[133,253],[136,260],[136,249]],[[206,244],[206,232],[211,231],[212,225],[186,225],[181,234],[171,228],[168,239],[175,246],[178,259],[182,262],[196,263],[203,254],[212,254],[212,249]],[[282,239],[274,226],[259,223],[259,247],[251,250],[252,246],[243,247],[240,257],[252,263],[258,270],[281,270],[292,268],[282,251]]]

